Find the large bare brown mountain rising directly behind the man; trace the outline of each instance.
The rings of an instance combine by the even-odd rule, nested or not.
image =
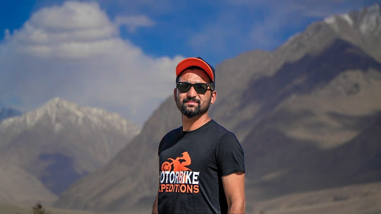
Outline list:
[[[255,50],[216,66],[211,118],[241,142],[248,210],[254,201],[381,180],[374,163],[381,152],[380,20],[380,6],[371,5],[314,22],[273,52]],[[171,95],[141,134],[55,206],[150,208],[158,143],[179,126]]]

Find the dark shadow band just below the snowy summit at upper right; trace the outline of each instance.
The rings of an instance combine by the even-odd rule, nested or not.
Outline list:
[[[359,47],[336,39],[321,53],[308,54],[297,62],[284,64],[272,77],[252,81],[250,87],[242,93],[243,102],[237,110],[243,109],[250,102],[263,103],[254,117],[258,121],[292,94],[310,93],[346,70],[365,72],[370,68],[381,70],[381,64]],[[357,85],[357,88],[354,86],[347,93],[355,94],[358,91]],[[253,123],[253,118],[240,123],[239,128],[250,123]]]

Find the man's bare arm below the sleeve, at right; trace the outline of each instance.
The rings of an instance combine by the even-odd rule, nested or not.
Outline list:
[[[236,172],[222,177],[227,200],[227,213],[245,213],[245,173]]]

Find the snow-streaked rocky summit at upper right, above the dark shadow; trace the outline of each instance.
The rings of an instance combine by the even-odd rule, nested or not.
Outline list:
[[[333,15],[314,22],[303,32],[290,37],[274,54],[294,55],[289,60],[298,60],[305,53],[324,50],[336,39],[360,47],[381,62],[380,5],[375,3],[360,11]]]

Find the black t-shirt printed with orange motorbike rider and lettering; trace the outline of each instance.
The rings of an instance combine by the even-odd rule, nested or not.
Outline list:
[[[233,133],[211,120],[166,134],[159,144],[159,213],[226,213],[222,176],[244,172],[243,150]]]

